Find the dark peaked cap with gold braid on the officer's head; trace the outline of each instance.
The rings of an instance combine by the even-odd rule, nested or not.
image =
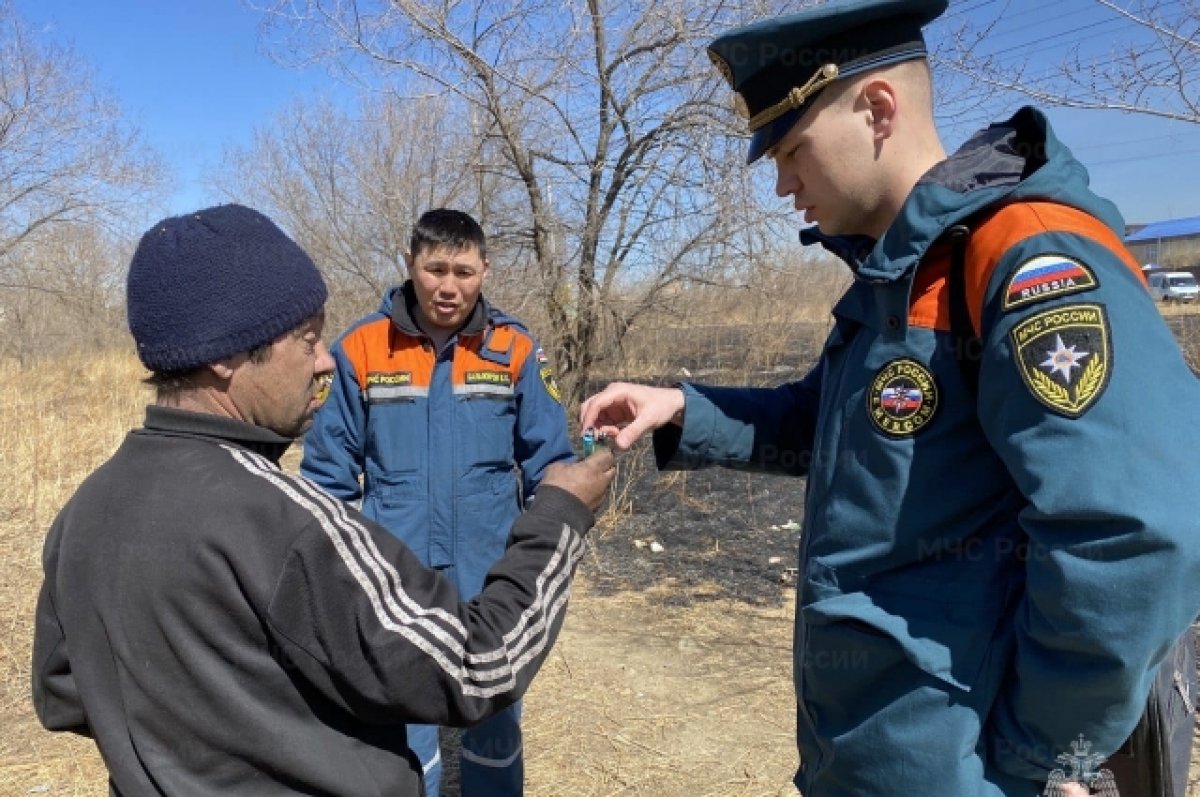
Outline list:
[[[947,0],[828,2],[719,36],[708,55],[748,122],[746,163],[774,146],[834,80],[925,58],[920,29],[946,7]]]

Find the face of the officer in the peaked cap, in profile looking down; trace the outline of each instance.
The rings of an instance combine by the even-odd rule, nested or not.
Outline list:
[[[768,151],[775,193],[827,235],[877,235],[875,155],[870,109],[829,89]]]

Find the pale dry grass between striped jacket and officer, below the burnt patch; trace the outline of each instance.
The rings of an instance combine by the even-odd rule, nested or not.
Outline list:
[[[790,607],[582,585],[526,699],[528,793],[794,796]]]

